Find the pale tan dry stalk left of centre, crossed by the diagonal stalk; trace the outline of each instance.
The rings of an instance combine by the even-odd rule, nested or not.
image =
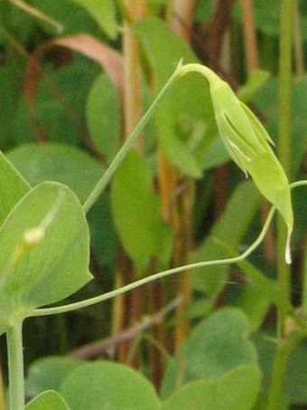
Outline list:
[[[125,23],[123,35],[123,62],[124,62],[124,83],[123,83],[123,132],[122,139],[125,140],[135,129],[136,124],[143,115],[143,89],[142,70],[139,56],[139,44],[131,30],[131,24],[141,19],[146,14],[144,1],[124,0]],[[137,138],[135,148],[143,152],[144,139]],[[118,259],[118,272],[116,281],[126,284],[136,279],[135,267],[129,258],[120,251]],[[139,320],[143,313],[144,291],[136,290],[128,295],[116,298],[113,310],[113,333],[126,329],[135,321]],[[118,349],[118,359],[126,362],[131,345],[130,341],[122,344]],[[133,365],[137,367],[137,355],[134,356]]]

